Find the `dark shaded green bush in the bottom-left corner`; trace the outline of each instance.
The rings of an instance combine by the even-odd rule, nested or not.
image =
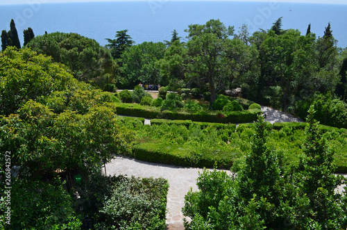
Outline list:
[[[81,229],[82,222],[60,179],[11,182],[12,229]]]

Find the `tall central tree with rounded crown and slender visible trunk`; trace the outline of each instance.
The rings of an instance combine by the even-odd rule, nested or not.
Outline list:
[[[211,104],[216,99],[216,80],[225,77],[228,71],[226,59],[226,44],[229,37],[234,34],[234,28],[226,28],[219,20],[211,19],[204,25],[192,24],[185,30],[189,33],[187,38],[187,64],[186,71],[190,78],[200,78],[208,82],[211,92]]]

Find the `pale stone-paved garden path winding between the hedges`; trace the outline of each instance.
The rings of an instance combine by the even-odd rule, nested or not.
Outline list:
[[[262,106],[262,112],[266,114],[265,121],[271,124],[274,122],[303,122],[298,117],[266,106]],[[150,125],[151,120],[146,119],[145,124]],[[198,173],[203,172],[203,169],[148,163],[126,156],[117,156],[105,167],[108,175],[126,174],[127,176],[153,176],[153,178],[162,177],[167,179],[170,185],[167,195],[167,229],[184,229],[182,208],[185,195],[187,195],[190,188],[193,191],[198,189],[196,179],[198,178]],[[230,171],[227,172],[231,174]],[[347,177],[347,174],[344,176]],[[343,186],[340,186],[337,190],[341,192]]]

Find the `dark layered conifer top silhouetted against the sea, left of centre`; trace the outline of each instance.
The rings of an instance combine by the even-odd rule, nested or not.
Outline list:
[[[135,42],[131,40],[130,35],[127,35],[126,33],[128,30],[124,31],[117,31],[116,32],[116,39],[112,40],[110,38],[106,38],[108,40],[108,43],[106,44],[106,47],[110,49],[110,52],[112,54],[112,57],[115,59],[121,58],[121,54],[128,49],[128,47],[131,47]]]

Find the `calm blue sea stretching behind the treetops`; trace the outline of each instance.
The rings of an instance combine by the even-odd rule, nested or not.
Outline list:
[[[312,33],[323,36],[328,22],[338,47],[347,47],[347,5],[239,2],[239,1],[118,1],[98,3],[43,3],[0,6],[0,30],[9,30],[15,19],[19,38],[31,27],[35,35],[45,31],[79,33],[101,45],[105,38],[115,38],[116,31],[128,29],[137,44],[144,41],[171,40],[171,31],[185,38],[189,24],[205,24],[220,19],[226,26],[239,30],[248,24],[250,32],[269,29],[279,17],[282,27],[297,28],[305,34],[308,24]]]

